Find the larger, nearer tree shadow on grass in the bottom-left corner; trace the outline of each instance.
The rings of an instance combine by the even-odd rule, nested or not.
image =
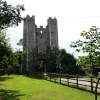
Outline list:
[[[24,95],[19,91],[0,89],[0,100],[20,100],[19,96]]]

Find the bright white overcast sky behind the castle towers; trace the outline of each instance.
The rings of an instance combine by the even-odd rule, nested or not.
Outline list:
[[[76,57],[82,53],[70,48],[70,43],[80,39],[80,33],[92,26],[100,27],[100,0],[6,0],[9,4],[24,4],[22,16],[34,15],[39,27],[47,25],[48,17],[58,20],[59,48],[66,49]],[[23,38],[23,22],[18,27],[9,28],[10,43],[14,50],[21,49],[16,45]]]

